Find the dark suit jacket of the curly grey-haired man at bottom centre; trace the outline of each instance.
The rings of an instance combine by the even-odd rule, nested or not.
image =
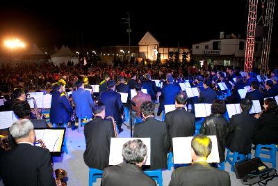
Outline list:
[[[101,178],[101,185],[153,186],[156,185],[156,182],[147,176],[140,167],[122,162],[121,164],[109,166],[104,169]]]

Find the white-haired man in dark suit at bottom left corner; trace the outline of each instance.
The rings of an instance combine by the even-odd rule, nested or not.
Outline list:
[[[35,132],[28,119],[16,121],[10,134],[17,143],[0,156],[0,176],[4,185],[55,185],[51,157],[47,148],[34,146]]]

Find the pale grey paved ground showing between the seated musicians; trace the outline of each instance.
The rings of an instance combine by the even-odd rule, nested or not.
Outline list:
[[[159,117],[158,119],[161,119]],[[124,132],[120,134],[120,137],[130,137],[130,130],[123,125]],[[65,169],[68,174],[67,185],[69,186],[83,186],[88,185],[88,166],[85,165],[83,161],[83,152],[85,150],[85,138],[83,132],[77,133],[77,130],[68,130],[67,137],[67,148],[69,150],[69,154],[63,154],[62,157],[54,158],[54,169]],[[252,156],[254,156],[254,150],[252,151]],[[276,156],[278,161],[278,155]],[[268,164],[269,165],[269,164]],[[231,185],[242,185],[240,180],[236,179],[235,173],[230,171],[231,166],[226,163],[225,171],[228,171],[231,177]],[[163,171],[163,185],[167,186],[170,183],[171,171]],[[94,185],[100,185],[100,178],[97,179],[97,183]],[[257,185],[257,184],[256,184]],[[268,185],[278,185],[278,178],[270,181]]]

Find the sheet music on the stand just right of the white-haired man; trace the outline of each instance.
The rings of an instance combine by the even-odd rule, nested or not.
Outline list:
[[[60,152],[63,146],[63,136],[65,130],[55,130],[55,129],[36,129],[35,136],[36,139],[42,139],[46,148],[50,152]],[[36,146],[40,146],[36,144]]]

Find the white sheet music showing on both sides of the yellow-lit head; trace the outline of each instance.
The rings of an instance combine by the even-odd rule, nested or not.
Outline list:
[[[212,142],[211,154],[208,155],[206,162],[220,162],[218,154],[218,143],[216,136],[208,136]],[[191,141],[193,137],[174,137],[173,138],[173,154],[174,164],[190,164],[191,156]]]

